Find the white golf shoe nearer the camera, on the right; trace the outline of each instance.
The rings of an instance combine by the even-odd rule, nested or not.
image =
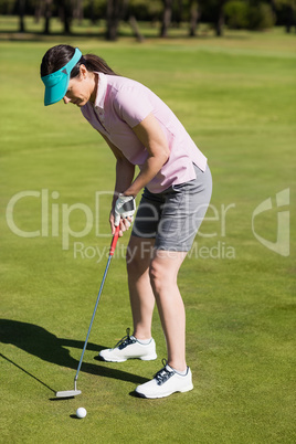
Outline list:
[[[166,398],[176,392],[188,392],[193,389],[192,373],[190,368],[187,368],[184,376],[178,373],[172,368],[163,362],[163,369],[159,370],[154,379],[145,384],[138,385],[136,393],[141,398]]]

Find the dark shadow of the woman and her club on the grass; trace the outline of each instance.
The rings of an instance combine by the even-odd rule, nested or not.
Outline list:
[[[84,346],[83,341],[60,339],[42,327],[10,319],[0,319],[0,341],[3,343],[12,343],[13,346],[27,351],[28,353],[36,356],[43,361],[52,362],[57,366],[67,367],[75,370],[78,367],[78,361],[71,357],[70,351],[65,347],[83,349]],[[107,347],[97,346],[92,342],[87,343],[87,350],[94,350],[97,353],[103,348]],[[7,358],[3,355],[0,356],[31,378],[45,385],[51,391],[55,392],[55,390],[53,390],[40,379],[34,377],[32,373],[23,369],[21,366],[13,362],[11,359]],[[148,381],[148,379],[141,378],[137,374],[89,362],[83,362],[81,371],[91,374],[97,374],[104,378],[114,378],[121,381],[134,382],[137,384],[141,384]]]

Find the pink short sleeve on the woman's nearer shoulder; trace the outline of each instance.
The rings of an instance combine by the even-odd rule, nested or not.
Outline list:
[[[134,128],[141,123],[152,110],[149,101],[149,91],[142,85],[129,86],[119,89],[114,101],[114,107],[120,119]]]

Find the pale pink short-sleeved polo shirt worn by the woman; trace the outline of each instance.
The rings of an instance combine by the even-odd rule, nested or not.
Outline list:
[[[87,102],[81,108],[82,114],[131,163],[141,169],[148,158],[147,149],[131,128],[152,113],[166,135],[170,157],[147,184],[150,192],[158,193],[171,184],[195,179],[192,163],[205,170],[207,158],[172,110],[155,93],[130,78],[97,74],[99,80],[95,103]]]

